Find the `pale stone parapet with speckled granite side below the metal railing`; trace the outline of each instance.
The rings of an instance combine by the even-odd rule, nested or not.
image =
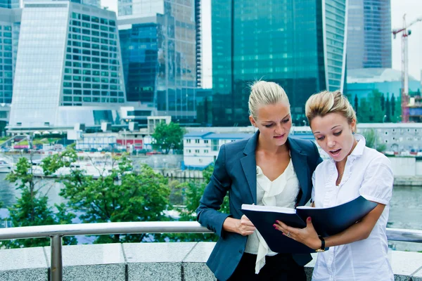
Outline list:
[[[213,242],[184,242],[65,246],[63,280],[215,280],[205,265],[214,245]],[[1,249],[0,280],[48,281],[50,251],[50,247]],[[422,253],[390,251],[389,259],[395,280],[422,281]],[[314,261],[305,268],[308,280]]]

